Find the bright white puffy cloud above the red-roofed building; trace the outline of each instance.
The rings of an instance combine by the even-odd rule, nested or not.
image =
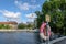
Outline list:
[[[20,16],[20,12],[11,12],[11,11],[8,11],[8,10],[0,10],[0,12],[7,16],[7,18],[12,18],[12,19],[15,19],[15,18],[19,18]]]

